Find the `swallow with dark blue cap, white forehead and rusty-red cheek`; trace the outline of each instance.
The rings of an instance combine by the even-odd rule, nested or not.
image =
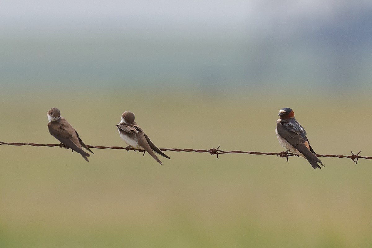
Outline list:
[[[321,169],[318,163],[323,165],[323,162],[315,155],[306,137],[306,131],[295,119],[293,110],[286,107],[281,109],[278,115],[280,119],[276,120],[275,133],[279,144],[286,148],[287,152],[306,158],[312,168]]]

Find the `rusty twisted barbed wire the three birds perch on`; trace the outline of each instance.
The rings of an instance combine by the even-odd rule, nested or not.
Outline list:
[[[0,145],[12,145],[12,146],[23,146],[23,145],[29,145],[29,146],[48,146],[48,147],[53,147],[53,146],[59,146],[61,148],[66,148],[68,149],[65,145],[61,144],[37,144],[37,143],[7,143],[7,142],[2,142],[0,141]],[[130,146],[122,147],[122,146],[93,146],[93,145],[87,145],[89,148],[95,148],[95,149],[122,149],[126,151],[139,151],[139,152],[144,152],[143,150],[137,150],[134,149]],[[220,154],[252,154],[252,155],[276,155],[277,157],[281,158],[286,158],[288,161],[288,157],[291,156],[297,156],[300,157],[298,154],[291,154],[289,152],[283,151],[283,152],[253,152],[253,151],[222,151],[219,149],[220,146],[217,148],[211,148],[208,150],[203,150],[203,149],[179,149],[179,148],[160,148],[161,151],[173,151],[173,152],[206,152],[211,155],[218,155]],[[372,159],[372,156],[364,157],[364,156],[359,156],[360,150],[357,154],[354,154],[351,151],[352,155],[334,155],[334,154],[315,154],[317,157],[326,157],[326,158],[349,158],[352,161],[357,164],[359,158],[364,158],[364,159]]]

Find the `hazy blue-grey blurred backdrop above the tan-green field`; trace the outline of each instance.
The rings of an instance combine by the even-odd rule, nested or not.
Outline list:
[[[1,1],[0,85],[371,87],[372,1]]]

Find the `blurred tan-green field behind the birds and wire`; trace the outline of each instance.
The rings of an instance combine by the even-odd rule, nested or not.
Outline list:
[[[0,141],[58,143],[46,112],[89,145],[126,146],[124,110],[160,148],[280,152],[291,107],[319,154],[372,155],[368,94],[241,91],[1,92]],[[0,247],[372,247],[372,161],[0,146]]]

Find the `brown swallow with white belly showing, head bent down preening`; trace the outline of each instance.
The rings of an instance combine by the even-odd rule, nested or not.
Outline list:
[[[134,120],[134,113],[130,111],[125,111],[121,115],[121,121],[118,127],[118,131],[120,134],[120,138],[122,138],[127,147],[132,147],[137,150],[144,150],[148,152],[159,164],[162,164],[160,159],[156,156],[154,152],[157,154],[170,159],[164,152],[160,151],[153,142],[151,142],[150,138],[143,132],[140,126]]]

